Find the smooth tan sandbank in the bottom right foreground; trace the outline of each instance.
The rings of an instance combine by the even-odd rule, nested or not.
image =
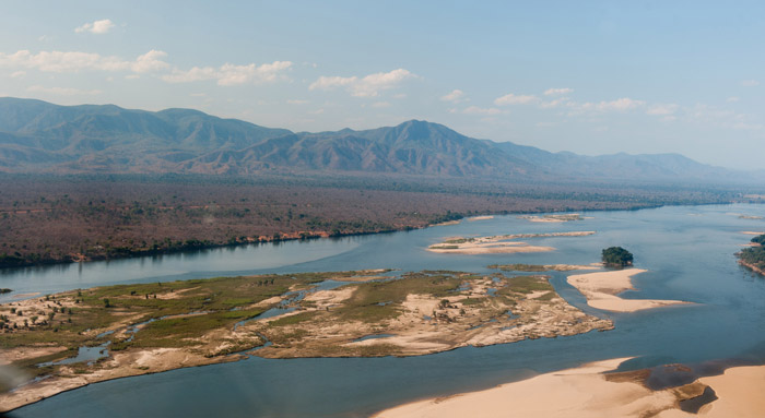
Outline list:
[[[635,379],[604,372],[627,358],[597,361],[446,398],[413,402],[376,414],[375,418],[458,417],[762,417],[765,410],[765,366],[737,367],[722,375],[662,391],[651,391]],[[718,399],[697,415],[680,409],[680,401],[711,387]]]

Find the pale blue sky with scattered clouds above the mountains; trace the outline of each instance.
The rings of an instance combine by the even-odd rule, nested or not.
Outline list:
[[[765,169],[765,2],[0,2],[0,96]]]

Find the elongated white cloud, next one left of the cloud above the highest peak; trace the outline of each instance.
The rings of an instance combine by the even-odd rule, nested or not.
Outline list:
[[[235,65],[225,63],[219,68],[193,67],[190,70],[173,69],[173,73],[163,75],[168,83],[190,83],[196,81],[216,80],[217,85],[232,86],[247,83],[268,83],[285,79],[284,70],[292,67],[290,61],[273,61],[256,65]]]

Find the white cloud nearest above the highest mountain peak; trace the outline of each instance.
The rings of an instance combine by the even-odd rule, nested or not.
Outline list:
[[[345,88],[354,97],[377,97],[380,92],[396,88],[405,80],[416,77],[415,74],[404,69],[369,74],[361,79],[355,75],[348,77],[322,75],[311,83],[308,89]]]

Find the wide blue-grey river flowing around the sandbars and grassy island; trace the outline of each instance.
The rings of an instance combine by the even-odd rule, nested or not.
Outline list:
[[[516,216],[462,222],[408,232],[284,242],[164,256],[5,270],[0,287],[19,294],[220,275],[362,268],[487,272],[495,263],[588,264],[605,247],[635,254],[635,291],[626,297],[681,299],[692,306],[637,313],[590,309],[553,273],[570,303],[611,318],[616,329],[574,337],[460,348],[410,358],[267,360],[251,357],[165,373],[114,380],[15,410],[13,417],[366,417],[389,406],[486,389],[599,359],[635,356],[629,368],[714,359],[763,359],[765,279],[740,267],[734,253],[765,231],[765,206],[668,206],[591,212],[584,220],[531,223]],[[458,255],[424,249],[450,236],[595,230],[586,237],[533,238],[546,253]]]

